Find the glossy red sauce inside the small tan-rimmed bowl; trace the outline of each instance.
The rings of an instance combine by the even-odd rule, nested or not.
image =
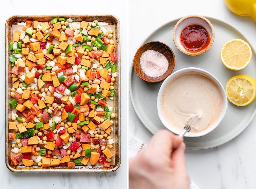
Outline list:
[[[180,42],[186,51],[196,53],[205,49],[210,43],[208,31],[197,24],[187,26],[180,34]]]

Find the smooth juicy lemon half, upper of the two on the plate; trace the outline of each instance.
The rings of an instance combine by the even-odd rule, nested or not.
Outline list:
[[[227,68],[241,70],[249,64],[252,50],[244,40],[231,39],[222,46],[220,58]]]

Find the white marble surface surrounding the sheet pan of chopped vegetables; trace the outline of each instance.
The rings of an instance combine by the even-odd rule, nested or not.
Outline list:
[[[38,2],[38,3],[37,3]],[[40,3],[39,3],[40,2]],[[2,29],[0,30],[0,43],[2,47],[1,62],[4,67],[5,62],[5,28],[4,24],[6,19],[11,15],[58,15],[58,14],[114,14],[117,16],[121,23],[121,61],[126,61],[126,8],[120,9],[118,7],[120,1],[18,1],[10,0],[2,2],[2,11],[0,13],[0,19],[2,23]],[[6,11],[5,11],[6,10]],[[126,78],[125,64],[121,66],[122,77]],[[4,70],[1,70],[0,85],[5,85]],[[5,129],[4,120],[5,113],[4,108],[1,109],[0,119],[2,121],[2,129],[0,134],[0,180],[1,188],[34,188],[35,184],[37,188],[125,188],[126,187],[126,107],[127,107],[127,90],[126,80],[121,82],[121,106],[122,106],[122,118],[121,118],[121,166],[113,173],[13,173],[9,171],[5,165]],[[0,98],[4,99],[5,94],[2,91]],[[4,100],[0,101],[0,107],[4,107]]]

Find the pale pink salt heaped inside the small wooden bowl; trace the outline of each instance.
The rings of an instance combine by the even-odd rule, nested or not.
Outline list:
[[[167,71],[169,63],[162,53],[147,50],[141,55],[140,65],[146,75],[156,78]]]

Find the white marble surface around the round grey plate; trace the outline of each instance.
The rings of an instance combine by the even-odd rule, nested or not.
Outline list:
[[[208,16],[231,24],[246,36],[255,49],[254,20],[233,14],[222,0],[130,0],[129,65],[132,64],[133,56],[142,42],[156,28],[191,14]],[[170,38],[172,39],[172,36]],[[130,98],[129,133],[145,143],[148,143],[152,136],[137,117]],[[190,178],[201,189],[255,188],[255,117],[240,135],[228,143],[211,149],[186,150],[185,156]]]

